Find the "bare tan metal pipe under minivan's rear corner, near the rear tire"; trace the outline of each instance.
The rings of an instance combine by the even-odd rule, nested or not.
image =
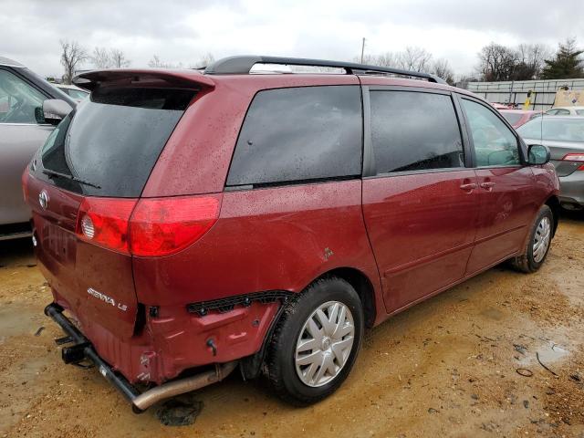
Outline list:
[[[144,412],[152,404],[163,399],[168,399],[185,392],[200,390],[217,381],[223,381],[225,377],[235,370],[237,363],[238,361],[234,360],[223,365],[216,364],[214,371],[206,371],[179,381],[170,381],[151,390],[144,391],[132,401],[132,409],[134,412]]]

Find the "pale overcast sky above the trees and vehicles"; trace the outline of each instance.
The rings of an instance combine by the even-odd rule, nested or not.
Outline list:
[[[0,0],[0,56],[61,75],[59,39],[116,47],[132,67],[153,55],[185,67],[205,53],[351,60],[423,47],[457,74],[491,41],[515,46],[568,36],[584,46],[584,0]],[[85,68],[90,68],[86,63]]]

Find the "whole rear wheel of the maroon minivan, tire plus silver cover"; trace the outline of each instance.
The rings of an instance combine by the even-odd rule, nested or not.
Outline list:
[[[339,277],[323,278],[294,297],[270,339],[267,378],[297,406],[320,401],[349,375],[363,337],[359,295]]]

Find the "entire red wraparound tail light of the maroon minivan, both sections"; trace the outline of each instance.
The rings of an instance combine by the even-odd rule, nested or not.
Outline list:
[[[220,195],[176,198],[85,198],[81,240],[123,254],[171,255],[192,245],[217,222]]]

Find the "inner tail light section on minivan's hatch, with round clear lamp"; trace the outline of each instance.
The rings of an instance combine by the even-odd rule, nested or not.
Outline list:
[[[85,198],[77,216],[77,235],[81,240],[130,254],[128,229],[135,199]]]

